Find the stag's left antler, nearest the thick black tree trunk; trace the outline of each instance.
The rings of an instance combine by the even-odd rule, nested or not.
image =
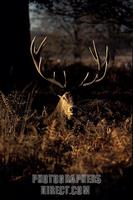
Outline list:
[[[32,42],[31,42],[31,46],[30,46],[30,53],[31,53],[31,56],[32,56],[32,59],[33,59],[33,62],[35,64],[35,67],[36,67],[36,70],[37,72],[40,74],[40,76],[42,78],[44,78],[45,80],[61,87],[61,88],[66,88],[66,72],[63,71],[63,75],[64,75],[64,85],[61,84],[59,81],[57,81],[55,79],[55,72],[53,72],[53,78],[47,78],[45,77],[42,72],[41,72],[41,65],[42,65],[42,57],[40,56],[41,54],[41,50],[43,48],[43,46],[46,44],[45,41],[46,41],[47,37],[45,37],[42,42],[40,43],[39,47],[36,48],[35,47],[35,40],[36,40],[36,37],[34,37],[32,39]]]

